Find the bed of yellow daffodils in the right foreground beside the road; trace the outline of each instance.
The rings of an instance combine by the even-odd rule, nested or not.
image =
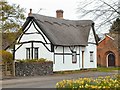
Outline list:
[[[93,78],[79,78],[77,80],[63,80],[56,84],[57,90],[67,88],[67,90],[80,90],[80,89],[118,89],[120,88],[120,75],[113,77],[98,77]]]

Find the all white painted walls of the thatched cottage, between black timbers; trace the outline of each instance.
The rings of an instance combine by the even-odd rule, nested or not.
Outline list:
[[[38,27],[37,27],[38,28]],[[39,28],[38,28],[39,29]],[[42,31],[39,29],[42,33]],[[37,30],[32,25],[30,29],[26,33],[37,32]],[[44,35],[44,34],[43,34]],[[50,41],[44,35],[45,39],[48,43]],[[23,35],[20,42],[25,41],[42,41],[45,42],[43,37],[40,34],[31,34],[31,35]],[[90,36],[88,39],[89,42],[95,43],[95,39],[93,36],[92,30],[90,31]],[[16,48],[19,45],[16,45]],[[50,49],[50,45],[47,45]],[[16,53],[15,59],[26,59],[26,48],[31,47],[31,43],[23,44]],[[77,51],[77,63],[72,63],[72,55],[64,55],[64,63],[63,63],[63,55],[55,55],[54,53],[49,52],[46,47],[42,43],[34,43],[34,47],[39,47],[39,58],[46,58],[47,60],[55,61],[53,64],[53,71],[65,71],[65,70],[79,70],[82,68],[82,47],[77,46],[75,50]],[[63,53],[63,47],[58,46],[57,48],[54,47],[55,53]],[[72,53],[69,47],[64,47],[64,53]],[[88,44],[88,46],[84,49],[84,68],[96,68],[97,67],[97,60],[96,60],[96,45]],[[90,51],[94,52],[94,61],[90,62]],[[55,59],[55,60],[54,60]]]

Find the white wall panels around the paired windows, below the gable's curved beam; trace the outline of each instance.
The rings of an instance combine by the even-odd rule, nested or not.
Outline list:
[[[16,45],[16,48],[17,47],[18,45]],[[20,47],[15,52],[15,59],[26,59],[26,48],[30,48],[30,47],[31,47],[31,43],[23,44],[23,46]],[[49,52],[42,43],[34,43],[34,47],[39,47],[38,48],[39,58],[46,58],[47,60],[53,61],[53,53]]]

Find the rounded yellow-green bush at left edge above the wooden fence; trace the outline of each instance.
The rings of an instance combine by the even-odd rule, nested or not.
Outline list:
[[[2,62],[13,62],[13,55],[10,52],[7,52],[5,50],[0,51],[0,56],[2,57]]]

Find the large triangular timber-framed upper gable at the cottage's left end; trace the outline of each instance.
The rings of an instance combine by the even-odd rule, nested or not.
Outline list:
[[[31,20],[30,23],[24,28],[23,33],[17,40],[17,43],[29,41],[42,41],[43,43],[50,43],[48,38],[43,34],[41,29],[33,20]]]

